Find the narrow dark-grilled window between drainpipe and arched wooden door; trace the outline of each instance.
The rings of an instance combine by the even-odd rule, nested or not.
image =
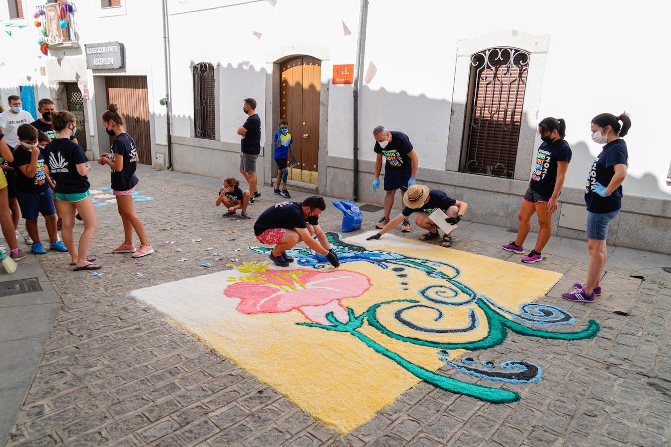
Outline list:
[[[193,66],[193,123],[196,138],[215,139],[214,66]]]

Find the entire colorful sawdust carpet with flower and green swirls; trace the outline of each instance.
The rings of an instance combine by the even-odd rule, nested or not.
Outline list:
[[[338,269],[307,248],[287,251],[295,262],[275,267],[271,247],[250,247],[256,261],[132,295],[343,434],[420,381],[517,401],[497,382],[539,381],[538,365],[466,353],[509,335],[578,340],[599,331],[594,320],[566,327],[578,326],[568,312],[533,302],[560,273],[392,235],[327,236]],[[437,372],[445,365],[459,373]]]

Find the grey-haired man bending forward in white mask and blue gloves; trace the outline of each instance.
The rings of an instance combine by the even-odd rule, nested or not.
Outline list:
[[[382,170],[382,155],[384,155],[384,217],[376,224],[376,228],[382,229],[389,223],[389,214],[394,206],[394,196],[396,190],[401,190],[401,199],[405,190],[415,184],[417,176],[417,153],[413,150],[410,139],[403,132],[387,131],[384,126],[377,126],[373,129],[375,139],[374,151],[377,154],[375,159],[375,178],[373,180],[373,192],[380,186],[380,171]],[[410,231],[410,221],[403,220],[401,231],[407,233]]]

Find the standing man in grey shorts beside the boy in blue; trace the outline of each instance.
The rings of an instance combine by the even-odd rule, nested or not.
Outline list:
[[[240,142],[240,174],[250,184],[250,203],[254,203],[255,197],[260,197],[256,184],[256,159],[261,152],[261,119],[256,113],[256,100],[248,98],[242,103],[242,111],[247,115],[245,123],[238,127],[238,135],[242,137]]]

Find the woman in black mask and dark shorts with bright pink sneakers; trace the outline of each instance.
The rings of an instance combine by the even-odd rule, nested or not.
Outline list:
[[[531,229],[531,216],[538,216],[538,239],[533,250],[522,258],[522,262],[534,263],[543,260],[541,251],[552,235],[552,213],[557,209],[557,199],[562,192],[566,170],[571,161],[571,148],[564,140],[566,122],[559,118],[546,118],[538,123],[538,133],[543,143],[536,153],[536,164],[527,186],[527,192],[519,206],[517,239],[503,245],[513,253],[524,253],[522,244]]]

